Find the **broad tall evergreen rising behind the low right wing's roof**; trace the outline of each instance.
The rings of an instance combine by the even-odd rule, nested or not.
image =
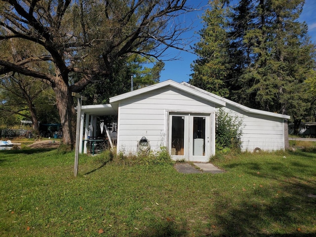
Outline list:
[[[256,1],[253,1],[256,2]],[[298,22],[304,1],[259,0],[243,36],[249,63],[238,78],[238,102],[302,118],[310,106],[304,82],[313,68],[314,45]],[[251,4],[251,3],[250,3]]]

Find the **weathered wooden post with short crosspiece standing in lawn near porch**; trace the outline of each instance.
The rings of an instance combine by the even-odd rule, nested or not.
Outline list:
[[[82,100],[87,100],[85,96],[80,95],[79,93],[72,93],[72,96],[77,98],[77,124],[76,124],[76,150],[75,150],[75,166],[74,166],[74,175],[77,177],[78,174],[78,162],[79,162],[79,141],[80,141],[80,115],[81,115],[81,104]]]

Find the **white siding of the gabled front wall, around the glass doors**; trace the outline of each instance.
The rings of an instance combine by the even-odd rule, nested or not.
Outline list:
[[[212,112],[215,105],[172,86],[142,93],[120,101],[118,114],[118,151],[136,153],[142,137],[151,150],[167,146],[167,111]]]

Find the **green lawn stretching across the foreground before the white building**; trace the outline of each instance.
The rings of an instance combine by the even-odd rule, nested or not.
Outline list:
[[[0,151],[1,237],[316,236],[313,152],[227,156],[222,174],[80,156],[77,178],[74,157]]]

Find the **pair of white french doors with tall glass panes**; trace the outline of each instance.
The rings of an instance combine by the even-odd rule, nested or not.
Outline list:
[[[210,151],[210,115],[169,113],[168,147],[174,160],[207,162]]]

